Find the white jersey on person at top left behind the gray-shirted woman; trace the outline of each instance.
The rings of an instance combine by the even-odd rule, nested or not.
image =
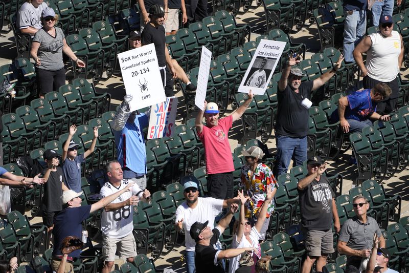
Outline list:
[[[28,27],[33,27],[36,29],[42,28],[41,24],[41,12],[48,6],[46,3],[41,3],[37,8],[34,8],[31,3],[24,3],[21,5],[20,10],[17,14],[17,25],[19,29],[25,29]]]

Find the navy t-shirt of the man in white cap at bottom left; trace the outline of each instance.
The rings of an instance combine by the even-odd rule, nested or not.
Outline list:
[[[53,256],[61,256],[61,242],[67,236],[82,238],[82,221],[88,218],[91,205],[64,208],[54,218],[54,250]],[[70,253],[69,257],[79,258],[81,249]]]

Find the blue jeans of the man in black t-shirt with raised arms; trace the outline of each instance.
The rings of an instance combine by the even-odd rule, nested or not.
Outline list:
[[[276,136],[277,163],[274,166],[274,176],[284,174],[288,170],[291,158],[293,166],[302,165],[307,160],[307,137],[292,138],[287,136]]]

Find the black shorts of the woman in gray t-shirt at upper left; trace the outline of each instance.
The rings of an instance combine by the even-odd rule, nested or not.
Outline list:
[[[35,73],[37,74],[38,90],[42,94],[58,92],[58,89],[65,85],[65,68],[56,71],[36,68]]]

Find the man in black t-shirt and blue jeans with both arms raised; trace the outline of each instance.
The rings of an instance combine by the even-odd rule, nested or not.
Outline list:
[[[303,71],[296,67],[300,62],[297,54],[290,55],[278,82],[278,110],[276,124],[277,163],[274,176],[286,173],[291,158],[294,166],[307,160],[308,109],[311,91],[319,89],[339,69],[343,55],[334,64],[334,68],[313,81],[301,82]]]

